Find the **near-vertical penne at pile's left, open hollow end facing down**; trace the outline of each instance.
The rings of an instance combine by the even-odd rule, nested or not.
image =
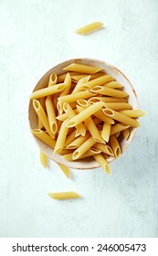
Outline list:
[[[58,124],[56,120],[56,113],[54,110],[53,102],[50,96],[46,97],[46,110],[47,110],[47,119],[48,119],[50,131],[53,134],[56,134],[58,130]]]

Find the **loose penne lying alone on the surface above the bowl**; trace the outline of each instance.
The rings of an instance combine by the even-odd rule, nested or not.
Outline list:
[[[80,27],[75,32],[77,34],[87,35],[87,34],[90,34],[91,32],[96,31],[102,26],[103,26],[103,23],[100,21],[97,21],[97,22],[90,23],[89,25],[86,25],[84,27]]]

